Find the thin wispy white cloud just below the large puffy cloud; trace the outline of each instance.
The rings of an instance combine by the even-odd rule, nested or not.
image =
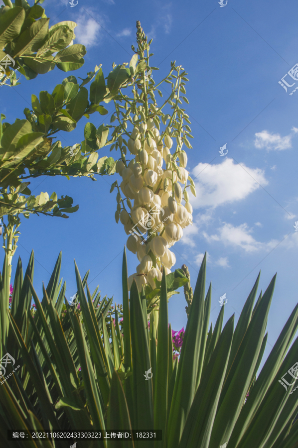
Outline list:
[[[218,233],[208,235],[205,231],[203,236],[210,243],[212,241],[221,241],[225,246],[241,247],[245,252],[256,252],[261,249],[272,249],[277,243],[277,240],[271,240],[268,243],[257,241],[252,235],[252,229],[246,223],[234,226],[229,223],[224,223],[218,229]]]

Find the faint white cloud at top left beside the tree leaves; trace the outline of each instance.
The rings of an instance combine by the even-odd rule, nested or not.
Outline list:
[[[94,12],[88,11],[85,13],[83,9],[80,10],[79,18],[76,20],[78,26],[75,28],[76,40],[75,43],[85,45],[85,47],[92,47],[98,44],[101,38],[101,25],[104,24],[104,20],[101,17],[93,18]]]

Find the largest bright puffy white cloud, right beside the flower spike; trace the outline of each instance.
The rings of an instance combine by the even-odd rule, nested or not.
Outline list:
[[[217,165],[199,163],[192,173],[198,176],[195,180],[197,196],[190,195],[193,208],[215,208],[239,201],[257,190],[258,183],[268,184],[263,170],[234,164],[233,159],[229,158]]]

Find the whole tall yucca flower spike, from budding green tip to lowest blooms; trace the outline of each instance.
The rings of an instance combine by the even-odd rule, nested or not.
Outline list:
[[[187,137],[192,137],[184,123],[190,122],[188,115],[180,106],[180,98],[188,103],[180,96],[185,94],[186,72],[171,63],[170,73],[163,81],[172,85],[172,92],[158,107],[154,92],[160,95],[161,92],[151,77],[150,42],[147,43],[139,22],[137,28],[139,49],[130,63],[134,74],[130,84],[133,98],[121,92],[121,100],[115,101],[116,112],[111,117],[111,122],[118,119],[119,123],[112,135],[116,142],[113,147],[121,151],[116,172],[122,178],[120,186],[115,182],[111,191],[115,186],[118,188],[116,222],[120,220],[124,225],[130,235],[127,248],[137,254],[140,262],[137,272],[129,277],[129,288],[135,279],[141,292],[146,285],[156,288],[155,280],[161,280],[163,269],[166,274],[171,272],[176,258],[170,248],[182,237],[183,229],[192,224],[188,188],[193,195],[196,193],[182,149],[183,144],[191,148]],[[121,104],[123,101],[125,106]],[[171,114],[165,114],[164,107],[170,107]]]

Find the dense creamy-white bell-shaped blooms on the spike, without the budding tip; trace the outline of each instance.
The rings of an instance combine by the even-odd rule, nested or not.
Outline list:
[[[151,105],[150,111],[155,113],[155,110]],[[138,106],[134,121],[138,121],[140,115],[144,119],[144,113],[144,106]],[[182,140],[173,126],[167,129],[164,142],[159,141],[161,131],[159,133],[152,118],[135,125],[132,132],[127,125],[124,127],[128,140],[123,141],[127,138],[125,134],[124,138],[118,136],[118,145],[123,148],[124,143],[133,157],[124,150],[127,161],[122,154],[123,159],[116,163],[116,172],[122,176],[120,190],[126,197],[124,201],[127,201],[125,210],[122,207],[123,197],[118,196],[117,210],[120,212],[120,222],[129,235],[127,248],[137,254],[140,262],[137,272],[129,277],[129,287],[135,279],[141,292],[142,286],[147,283],[152,289],[156,287],[155,280],[161,280],[162,270],[166,274],[171,272],[176,258],[169,247],[182,237],[182,229],[192,224],[192,207],[185,189],[189,173],[185,168],[186,153],[179,150]],[[173,154],[170,151],[173,145],[170,134],[178,145]],[[179,161],[176,160],[175,151],[179,151]],[[163,160],[166,162],[165,169],[162,168]],[[184,206],[181,204],[183,198]],[[155,259],[156,265],[152,261]],[[152,267],[153,264],[156,267]]]

